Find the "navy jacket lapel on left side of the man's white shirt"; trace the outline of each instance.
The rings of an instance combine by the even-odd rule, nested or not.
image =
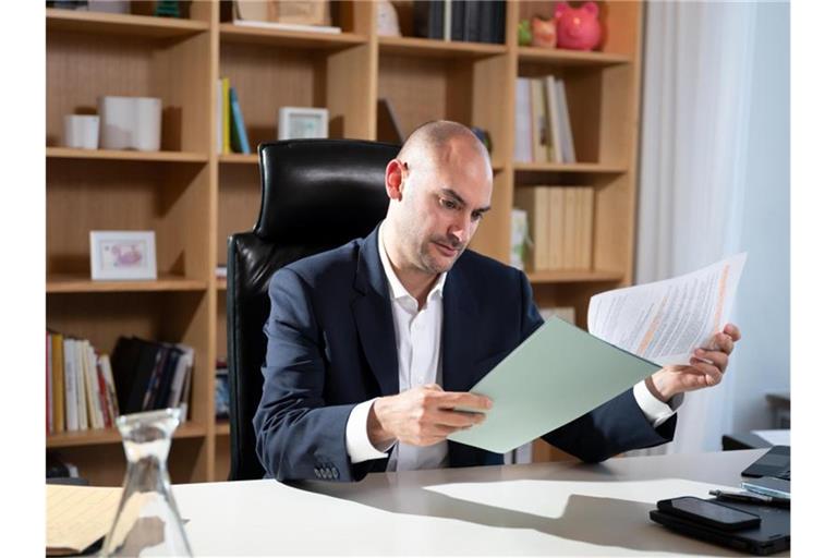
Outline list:
[[[361,243],[354,287],[361,296],[352,303],[357,336],[383,396],[398,393],[398,354],[392,307],[378,255],[378,226]]]

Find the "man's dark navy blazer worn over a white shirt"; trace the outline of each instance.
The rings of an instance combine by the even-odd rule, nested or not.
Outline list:
[[[378,230],[300,259],[270,280],[264,392],[253,420],[256,451],[279,481],[359,481],[387,459],[352,464],[345,425],[357,403],[399,392],[398,357]],[[471,251],[442,291],[446,391],[468,391],[542,324],[524,274]],[[677,417],[653,428],[632,390],[543,436],[583,461],[670,441]],[[451,466],[501,464],[502,456],[448,442]]]

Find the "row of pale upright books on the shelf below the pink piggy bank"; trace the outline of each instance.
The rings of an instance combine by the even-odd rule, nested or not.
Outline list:
[[[514,160],[575,162],[563,80],[518,77],[514,95]]]

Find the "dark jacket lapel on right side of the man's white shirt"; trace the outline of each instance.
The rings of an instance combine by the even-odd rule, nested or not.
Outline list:
[[[476,319],[476,301],[453,265],[445,280],[441,319],[441,376],[446,391],[468,391],[473,385],[470,348]]]

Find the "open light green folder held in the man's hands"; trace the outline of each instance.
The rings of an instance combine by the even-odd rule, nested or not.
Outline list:
[[[506,453],[609,401],[660,366],[554,317],[476,386],[494,405],[449,440]]]

